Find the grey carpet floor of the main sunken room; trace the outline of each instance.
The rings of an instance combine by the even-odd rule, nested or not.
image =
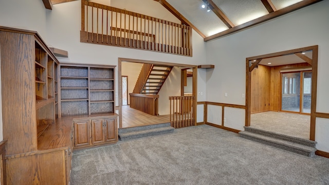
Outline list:
[[[329,159],[199,125],[74,151],[71,184],[329,184]]]

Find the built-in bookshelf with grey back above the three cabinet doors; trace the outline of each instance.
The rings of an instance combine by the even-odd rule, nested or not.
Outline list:
[[[61,64],[61,116],[114,113],[114,68]]]

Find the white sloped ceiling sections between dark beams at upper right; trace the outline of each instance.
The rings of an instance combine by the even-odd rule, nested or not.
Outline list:
[[[206,37],[228,29],[213,11],[207,12],[207,4],[202,0],[166,1]],[[276,10],[301,2],[301,0],[268,1],[272,2]],[[269,14],[261,0],[212,0],[212,2],[228,17],[235,27]],[[206,5],[206,8],[201,8],[202,5]]]

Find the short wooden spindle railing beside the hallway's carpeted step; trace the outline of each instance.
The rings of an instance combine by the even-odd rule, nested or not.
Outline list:
[[[170,123],[174,128],[195,125],[195,97],[194,96],[171,96]]]

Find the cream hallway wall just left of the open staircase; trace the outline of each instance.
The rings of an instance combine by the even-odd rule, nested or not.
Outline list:
[[[121,62],[121,75],[128,76],[128,104],[130,104],[129,93],[133,93],[142,67],[142,63]]]

